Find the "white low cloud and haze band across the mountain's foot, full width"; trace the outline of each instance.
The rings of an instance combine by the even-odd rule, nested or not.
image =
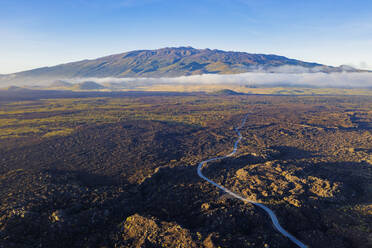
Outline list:
[[[348,68],[345,66],[345,70]],[[265,71],[266,70],[266,71]],[[372,73],[370,72],[334,72],[324,73],[320,67],[304,68],[299,66],[281,66],[270,69],[257,68],[254,72],[241,74],[203,74],[181,77],[161,78],[50,78],[25,77],[18,78],[15,74],[0,75],[0,86],[35,86],[50,85],[56,80],[72,83],[94,81],[100,84],[116,86],[116,88],[132,88],[148,85],[166,84],[240,84],[240,85],[281,85],[302,87],[338,87],[338,88],[372,88]],[[119,84],[119,85],[114,85]]]

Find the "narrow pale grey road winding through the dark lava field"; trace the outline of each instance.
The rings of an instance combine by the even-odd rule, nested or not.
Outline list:
[[[221,160],[221,159],[224,159],[224,158],[228,158],[228,157],[231,157],[233,156],[236,151],[238,150],[238,144],[239,142],[242,140],[243,136],[241,135],[240,133],[240,129],[244,126],[246,120],[248,118],[248,114],[243,118],[242,120],[242,123],[240,124],[239,127],[236,127],[235,128],[235,131],[236,133],[238,134],[238,139],[235,141],[234,143],[234,149],[231,153],[225,155],[225,156],[221,156],[221,157],[214,157],[214,158],[210,158],[210,159],[207,159],[207,160],[204,160],[202,162],[199,163],[198,165],[198,175],[199,177],[201,177],[202,179],[206,180],[207,182],[209,182],[210,184],[216,186],[217,188],[221,189],[222,191],[226,192],[227,194],[231,195],[232,197],[236,198],[236,199],[239,199],[243,202],[247,202],[247,203],[251,203],[257,207],[260,207],[262,208],[263,210],[265,210],[265,212],[270,216],[270,219],[275,227],[275,229],[280,232],[283,236],[287,237],[288,239],[290,239],[293,243],[295,243],[298,247],[301,247],[301,248],[307,248],[307,246],[305,244],[303,244],[301,241],[299,241],[295,236],[293,236],[292,234],[290,234],[289,232],[287,232],[279,223],[278,221],[278,218],[276,217],[275,213],[268,207],[266,207],[264,204],[262,203],[258,203],[258,202],[254,202],[254,201],[251,201],[251,200],[248,200],[232,191],[230,191],[229,189],[223,187],[222,185],[219,185],[218,183],[212,181],[211,179],[207,178],[206,176],[203,175],[202,173],[202,170],[203,170],[203,167],[209,163],[209,162],[212,162],[212,161],[215,161],[215,160]]]

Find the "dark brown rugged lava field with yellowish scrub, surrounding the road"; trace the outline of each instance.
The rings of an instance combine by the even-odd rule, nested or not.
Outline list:
[[[34,92],[0,101],[0,247],[372,247],[372,98]]]

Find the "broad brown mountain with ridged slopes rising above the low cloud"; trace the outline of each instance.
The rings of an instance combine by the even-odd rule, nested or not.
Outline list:
[[[45,84],[58,79],[86,77],[156,78],[206,73],[236,74],[256,70],[289,73],[359,71],[349,66],[332,67],[278,55],[178,47],[131,51],[93,60],[1,75],[0,84]]]

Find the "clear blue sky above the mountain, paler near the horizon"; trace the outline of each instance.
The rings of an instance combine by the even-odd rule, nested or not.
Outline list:
[[[372,69],[372,1],[0,0],[0,74],[167,46]]]

